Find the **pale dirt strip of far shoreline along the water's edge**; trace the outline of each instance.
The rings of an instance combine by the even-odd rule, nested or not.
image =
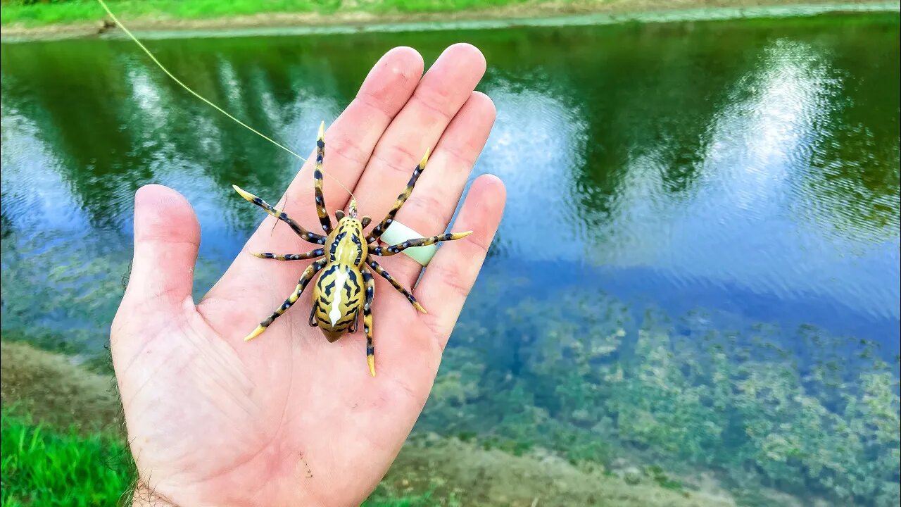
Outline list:
[[[358,32],[424,32],[441,30],[489,30],[514,26],[584,26],[616,23],[674,23],[751,18],[781,18],[839,13],[901,13],[901,2],[802,2],[754,5],[746,0],[681,0],[667,3],[623,0],[611,3],[538,3],[452,13],[336,14],[261,13],[201,19],[135,18],[123,23],[141,39],[247,37],[277,35],[341,34]],[[104,28],[103,18],[92,22],[51,23],[0,28],[0,42],[53,41],[62,39],[125,39],[118,29]]]

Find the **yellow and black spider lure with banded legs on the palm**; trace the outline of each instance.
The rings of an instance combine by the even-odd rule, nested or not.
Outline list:
[[[394,206],[388,211],[387,216],[378,223],[377,226],[367,235],[364,232],[366,226],[369,226],[369,217],[357,217],[357,202],[351,196],[348,214],[338,210],[335,217],[338,224],[332,226],[332,219],[329,217],[325,208],[325,199],[323,198],[323,159],[325,156],[324,141],[325,124],[319,126],[319,137],[316,141],[316,165],[314,168],[314,189],[316,200],[316,215],[323,227],[325,235],[319,235],[308,231],[303,226],[297,224],[294,219],[288,217],[287,213],[280,211],[275,207],[268,205],[266,201],[249,192],[240,189],[237,186],[232,187],[241,195],[242,198],[251,203],[262,207],[266,212],[287,223],[294,232],[305,241],[320,245],[319,248],[311,250],[307,253],[253,253],[253,255],[262,259],[275,259],[278,261],[299,261],[304,259],[317,259],[310,264],[304,274],[297,281],[295,290],[288,296],[287,300],[272,315],[262,321],[259,326],[254,329],[250,335],[244,338],[245,341],[259,336],[269,327],[276,318],[281,317],[287,309],[303,294],[306,286],[313,277],[319,273],[319,279],[314,284],[313,290],[313,308],[310,311],[310,326],[319,327],[323,331],[323,335],[329,342],[334,342],[344,336],[346,333],[354,333],[357,330],[359,317],[363,318],[363,331],[366,334],[366,359],[369,364],[369,373],[376,375],[375,367],[375,347],[373,345],[373,329],[372,329],[372,300],[375,297],[376,282],[373,279],[372,272],[385,278],[391,285],[401,294],[403,294],[415,309],[425,313],[422,305],[416,301],[414,295],[406,290],[403,285],[397,282],[388,274],[376,261],[375,257],[387,257],[396,253],[401,253],[407,248],[414,246],[425,246],[428,244],[436,244],[441,241],[452,241],[471,234],[472,231],[465,233],[453,233],[444,235],[435,235],[432,237],[421,237],[410,239],[401,244],[393,244],[390,246],[379,246],[378,238],[385,232],[388,226],[394,221],[397,211],[404,205],[406,199],[413,193],[416,180],[419,179],[425,169],[428,161],[429,153],[426,152],[423,160],[419,162],[413,171],[413,176],[407,183],[404,191],[397,196]]]

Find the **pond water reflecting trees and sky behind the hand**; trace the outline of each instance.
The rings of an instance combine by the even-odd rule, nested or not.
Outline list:
[[[896,502],[897,13],[151,46],[304,152],[384,51],[461,40],[508,205],[419,429]],[[199,296],[259,223],[231,183],[296,171],[127,41],[4,44],[2,91],[5,336],[104,345],[141,185],[194,205]]]

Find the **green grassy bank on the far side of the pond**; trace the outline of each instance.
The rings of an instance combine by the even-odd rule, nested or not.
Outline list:
[[[850,0],[842,5],[872,3],[872,0]],[[108,4],[124,23],[136,30],[204,30],[836,3],[828,0],[110,0]],[[96,0],[41,3],[11,0],[4,3],[0,12],[0,24],[6,36],[86,35],[101,30],[104,19],[105,13]]]

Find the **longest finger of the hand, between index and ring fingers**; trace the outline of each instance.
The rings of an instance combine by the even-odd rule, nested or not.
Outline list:
[[[354,189],[361,212],[376,222],[387,213],[426,149],[435,147],[451,119],[472,96],[485,74],[485,65],[482,53],[469,44],[454,44],[441,53],[378,142]],[[432,234],[437,232],[441,231]]]

